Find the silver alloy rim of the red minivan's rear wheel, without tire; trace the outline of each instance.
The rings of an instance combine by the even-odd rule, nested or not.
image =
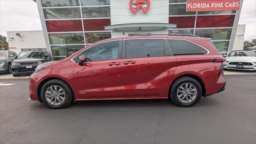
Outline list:
[[[192,102],[197,95],[197,88],[194,84],[184,83],[178,87],[177,96],[181,102]]]

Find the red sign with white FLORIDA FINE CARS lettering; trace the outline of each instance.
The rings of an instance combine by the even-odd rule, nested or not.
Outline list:
[[[187,1],[186,11],[239,10],[240,0]]]

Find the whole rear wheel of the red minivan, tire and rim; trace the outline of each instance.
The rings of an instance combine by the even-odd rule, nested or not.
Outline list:
[[[189,88],[190,86],[191,88]],[[188,91],[186,91],[186,89],[188,89]],[[172,83],[169,94],[169,97],[174,104],[182,107],[190,107],[194,106],[200,100],[202,96],[202,87],[194,78],[184,76]]]

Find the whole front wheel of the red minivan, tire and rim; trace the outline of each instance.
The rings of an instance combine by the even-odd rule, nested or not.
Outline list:
[[[64,93],[61,95],[58,95],[58,93],[56,92],[60,90],[60,88],[62,88],[62,90],[59,93],[63,93],[63,92]],[[54,93],[55,93],[55,96],[46,96],[46,95],[54,95]],[[52,109],[65,108],[69,104],[71,104],[73,100],[70,86],[66,82],[58,79],[50,80],[42,86],[40,91],[40,98],[45,106]]]

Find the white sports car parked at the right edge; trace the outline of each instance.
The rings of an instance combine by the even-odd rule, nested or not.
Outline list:
[[[256,71],[256,53],[253,50],[232,51],[226,60],[224,69]]]

